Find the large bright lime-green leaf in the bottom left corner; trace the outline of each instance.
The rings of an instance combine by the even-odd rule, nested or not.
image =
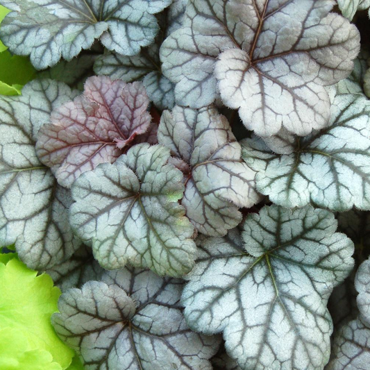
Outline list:
[[[51,326],[60,290],[17,258],[0,262],[0,369],[61,370],[74,355]]]

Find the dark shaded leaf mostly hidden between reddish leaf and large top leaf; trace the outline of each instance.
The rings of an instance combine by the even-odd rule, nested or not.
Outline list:
[[[99,75],[121,79],[125,82],[142,80],[149,99],[160,110],[171,109],[175,104],[174,84],[160,70],[159,48],[162,39],[157,40],[137,56],[122,56],[105,53],[97,58],[94,71]]]

